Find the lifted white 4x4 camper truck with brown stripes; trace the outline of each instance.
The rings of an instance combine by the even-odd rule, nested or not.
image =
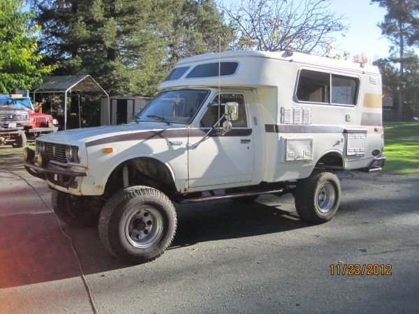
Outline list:
[[[179,61],[135,122],[36,140],[24,166],[69,225],[98,223],[124,262],[170,246],[173,202],[291,192],[300,218],[335,215],[339,170],[381,170],[381,76],[374,66],[292,52]],[[37,156],[36,156],[37,155]]]

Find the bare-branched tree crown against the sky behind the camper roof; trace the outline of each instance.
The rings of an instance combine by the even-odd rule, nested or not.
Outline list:
[[[233,50],[325,54],[348,25],[329,10],[330,0],[240,0],[221,6],[235,31]]]

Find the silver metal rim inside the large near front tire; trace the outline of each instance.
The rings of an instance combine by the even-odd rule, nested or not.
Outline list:
[[[125,237],[135,248],[149,248],[161,239],[163,218],[159,211],[149,206],[135,209],[125,223]]]

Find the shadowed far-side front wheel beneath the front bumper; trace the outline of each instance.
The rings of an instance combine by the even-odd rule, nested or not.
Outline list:
[[[92,227],[98,224],[103,202],[98,197],[77,196],[53,190],[52,207],[58,218],[72,227]]]

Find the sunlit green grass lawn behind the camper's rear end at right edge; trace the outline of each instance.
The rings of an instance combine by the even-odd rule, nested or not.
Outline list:
[[[419,123],[384,125],[384,172],[419,174]]]

